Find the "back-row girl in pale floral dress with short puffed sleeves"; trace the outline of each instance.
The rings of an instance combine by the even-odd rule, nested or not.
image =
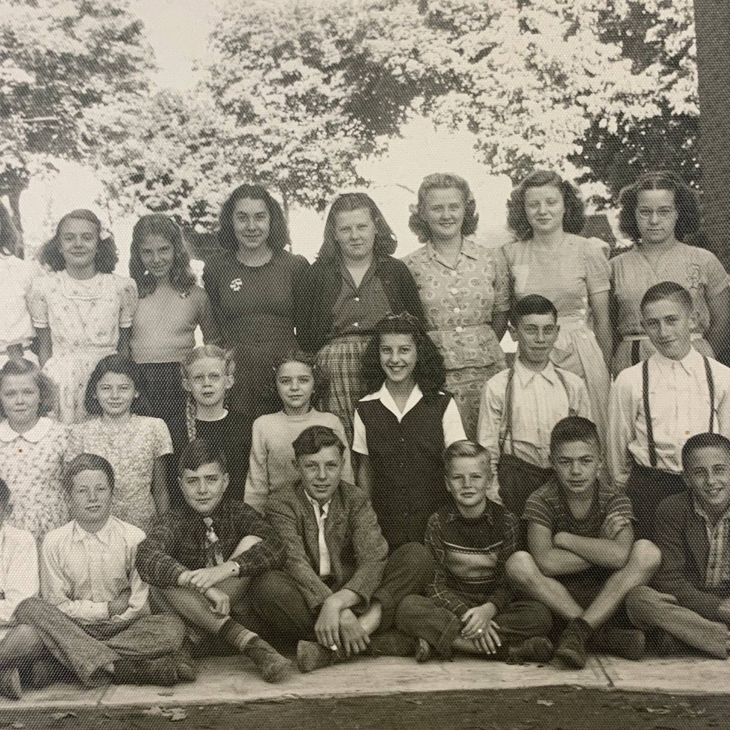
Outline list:
[[[86,383],[96,363],[110,353],[129,354],[137,286],[112,274],[117,249],[90,210],[74,210],[58,223],[40,255],[51,269],[31,287],[29,309],[39,338],[44,372],[58,385],[63,423],[88,418]]]

